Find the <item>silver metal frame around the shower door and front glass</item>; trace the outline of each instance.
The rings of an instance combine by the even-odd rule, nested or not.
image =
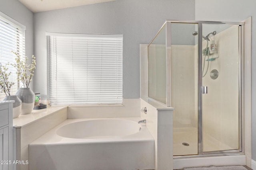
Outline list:
[[[243,92],[244,86],[242,85],[242,75],[244,74],[244,22],[220,22],[220,21],[186,21],[186,20],[166,20],[166,71],[167,71],[167,89],[166,89],[166,106],[171,106],[171,23],[194,23],[198,24],[198,154],[188,156],[175,156],[175,157],[190,157],[202,156],[213,154],[237,154],[244,152],[244,138],[242,127],[244,127],[243,116]],[[239,149],[234,150],[219,150],[203,152],[203,129],[202,129],[202,24],[218,24],[218,25],[236,25],[238,26],[238,55],[239,55],[239,68],[238,68],[238,114],[239,114]],[[151,42],[150,42],[151,43]]]

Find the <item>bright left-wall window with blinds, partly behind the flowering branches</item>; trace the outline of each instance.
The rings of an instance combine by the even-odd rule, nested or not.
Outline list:
[[[2,65],[15,62],[16,56],[12,51],[25,60],[25,26],[0,12],[0,63]],[[14,95],[20,84],[17,80],[16,69],[11,65],[8,65],[8,68],[8,71],[12,72],[9,81],[15,83],[11,89],[11,95]],[[0,93],[0,100],[4,97],[5,94]]]

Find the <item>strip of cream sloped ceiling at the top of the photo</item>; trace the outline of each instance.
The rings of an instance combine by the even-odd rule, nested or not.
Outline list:
[[[42,12],[49,10],[57,10],[62,8],[70,8],[74,6],[82,6],[88,4],[97,4],[101,2],[109,2],[114,0],[19,0],[32,12]]]

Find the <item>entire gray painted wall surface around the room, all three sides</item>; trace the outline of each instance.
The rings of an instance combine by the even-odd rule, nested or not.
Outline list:
[[[149,43],[166,19],[242,21],[252,16],[256,45],[255,0],[118,0],[34,14],[18,0],[1,0],[0,11],[26,26],[26,55],[37,57],[34,91],[46,98],[45,32],[124,34],[124,98],[139,98],[139,44]],[[33,51],[34,48],[34,51]],[[252,48],[252,122],[256,122],[256,49]],[[33,88],[33,83],[31,83]],[[256,160],[256,123],[252,159]]]

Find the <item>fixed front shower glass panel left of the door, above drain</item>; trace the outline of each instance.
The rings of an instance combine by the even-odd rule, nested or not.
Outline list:
[[[174,156],[198,154],[198,24],[171,23],[171,106]]]

